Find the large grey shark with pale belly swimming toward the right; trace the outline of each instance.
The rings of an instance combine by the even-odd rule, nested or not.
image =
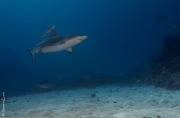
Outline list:
[[[39,44],[37,44],[32,50],[27,48],[34,62],[34,54],[38,52],[58,52],[66,50],[68,53],[72,53],[72,46],[81,43],[87,38],[84,34],[72,34],[72,35],[58,35],[55,30],[50,31],[49,38],[46,38]]]

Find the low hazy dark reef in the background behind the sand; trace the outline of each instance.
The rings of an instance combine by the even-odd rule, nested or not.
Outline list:
[[[72,78],[54,80],[55,87],[58,89],[75,89],[79,87],[96,87],[119,83],[121,76],[112,77],[104,73],[81,72]]]

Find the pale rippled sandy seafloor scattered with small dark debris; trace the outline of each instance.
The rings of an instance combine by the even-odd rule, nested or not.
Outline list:
[[[145,85],[79,88],[10,97],[5,110],[5,118],[180,118],[180,91]]]

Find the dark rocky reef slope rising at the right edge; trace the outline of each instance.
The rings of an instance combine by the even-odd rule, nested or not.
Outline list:
[[[180,35],[166,36],[162,46],[147,62],[123,78],[124,83],[133,84],[138,81],[171,90],[180,89]]]

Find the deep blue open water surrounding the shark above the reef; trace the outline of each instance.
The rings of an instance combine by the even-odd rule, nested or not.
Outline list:
[[[0,92],[33,88],[34,82],[82,71],[124,75],[142,64],[180,21],[179,0],[1,0]],[[166,20],[154,20],[164,15]],[[55,25],[58,34],[85,34],[66,51],[38,53],[34,63],[26,47]]]

